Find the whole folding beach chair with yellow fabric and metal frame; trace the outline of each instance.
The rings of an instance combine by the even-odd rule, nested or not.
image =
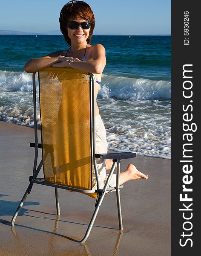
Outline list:
[[[49,67],[38,73],[40,132],[37,135],[37,93],[36,73],[33,73],[34,96],[34,136],[35,148],[33,175],[29,186],[11,220],[11,226],[23,206],[34,183],[55,188],[57,215],[60,215],[58,189],[80,192],[96,198],[95,210],[86,233],[79,242],[85,242],[94,224],[106,192],[116,191],[119,229],[123,230],[120,202],[120,162],[133,158],[135,153],[95,152],[95,79],[91,73],[72,68]],[[42,159],[37,164],[38,149],[42,149]],[[112,159],[112,168],[104,187],[99,186],[97,159]],[[116,186],[109,187],[109,181],[117,166]],[[43,178],[38,178],[43,167]],[[92,189],[95,177],[97,189]]]

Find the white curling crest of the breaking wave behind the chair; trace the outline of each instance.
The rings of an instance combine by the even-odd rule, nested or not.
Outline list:
[[[32,74],[0,71],[0,90],[5,92],[32,91]],[[170,100],[171,82],[103,74],[98,96],[104,99]]]

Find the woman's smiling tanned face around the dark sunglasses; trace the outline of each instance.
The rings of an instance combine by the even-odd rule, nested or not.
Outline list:
[[[71,21],[85,22],[87,20],[73,19]],[[90,28],[83,29],[81,25],[79,25],[77,29],[70,29],[69,27],[67,27],[67,30],[68,30],[68,36],[71,39],[71,43],[77,43],[77,44],[86,43],[86,40],[89,37]]]

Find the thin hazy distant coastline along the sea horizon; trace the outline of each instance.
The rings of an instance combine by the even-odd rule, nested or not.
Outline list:
[[[62,35],[62,34],[60,31],[57,31],[57,30],[52,30],[52,31],[43,32],[43,33],[23,32],[23,31],[17,31],[17,30],[0,30],[0,35]],[[94,34],[94,35],[123,35],[123,34]],[[146,35],[171,36],[171,34],[146,34]]]

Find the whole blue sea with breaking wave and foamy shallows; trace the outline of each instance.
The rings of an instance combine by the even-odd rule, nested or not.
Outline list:
[[[96,43],[106,49],[97,102],[109,149],[171,158],[171,37],[94,35]],[[23,65],[59,49],[68,49],[62,35],[0,35],[0,120],[33,127]]]

